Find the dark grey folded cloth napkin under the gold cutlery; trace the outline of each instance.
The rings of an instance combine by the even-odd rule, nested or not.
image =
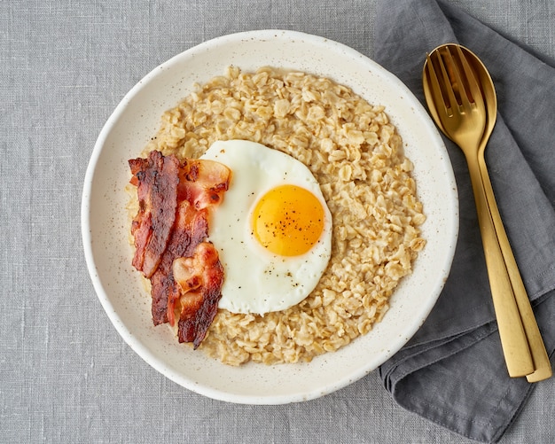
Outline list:
[[[379,1],[375,60],[425,104],[426,51],[461,43],[489,68],[499,102],[486,161],[497,205],[553,362],[555,349],[555,62],[434,0]],[[379,369],[403,408],[470,439],[499,440],[535,385],[509,378],[463,153],[444,138],[460,232],[442,295],[406,347]],[[536,383],[536,384],[542,384]]]

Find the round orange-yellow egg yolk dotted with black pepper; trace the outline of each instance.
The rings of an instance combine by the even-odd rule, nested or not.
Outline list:
[[[322,204],[299,186],[278,186],[264,194],[254,207],[254,238],[271,253],[282,256],[307,253],[323,230]]]

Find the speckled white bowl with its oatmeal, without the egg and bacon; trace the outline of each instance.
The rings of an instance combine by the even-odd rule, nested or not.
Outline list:
[[[131,266],[128,160],[196,159],[226,140],[309,167],[332,214],[332,253],[300,303],[219,309],[193,350],[153,325],[148,283]],[[91,156],[82,235],[98,298],[145,362],[218,400],[278,404],[332,393],[403,347],[449,275],[457,211],[442,139],[402,82],[340,43],[267,30],[202,43],[129,91]]]

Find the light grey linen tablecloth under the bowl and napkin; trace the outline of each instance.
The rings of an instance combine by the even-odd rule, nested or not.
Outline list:
[[[451,4],[555,57],[553,2]],[[82,254],[92,147],[152,68],[210,38],[263,28],[323,35],[372,57],[378,20],[373,1],[0,2],[1,442],[473,442],[398,406],[378,371],[283,406],[187,391],[113,329]],[[500,442],[555,442],[553,393],[553,378],[535,386]]]

